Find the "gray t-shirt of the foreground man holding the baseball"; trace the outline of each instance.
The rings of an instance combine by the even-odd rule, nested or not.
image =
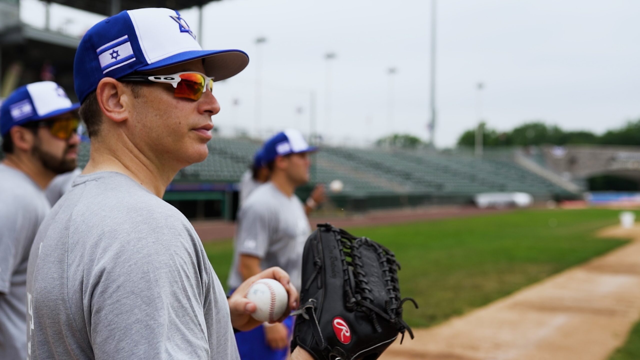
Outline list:
[[[239,360],[188,220],[117,172],[80,175],[36,235],[28,359]]]

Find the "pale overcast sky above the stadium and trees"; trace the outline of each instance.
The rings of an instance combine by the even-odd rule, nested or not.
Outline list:
[[[22,20],[44,24],[38,1],[21,4]],[[640,118],[640,1],[440,0],[436,13],[438,147],[479,122],[478,82],[481,117],[499,130],[543,120],[602,133]],[[198,29],[195,10],[182,15]],[[73,34],[101,19],[63,6],[52,16],[52,28]],[[251,58],[244,72],[216,83],[222,110],[214,124],[225,135],[308,133],[314,91],[317,129],[334,142],[361,145],[390,132],[427,138],[430,19],[427,0],[208,4],[204,47]],[[266,42],[256,45],[257,37]],[[329,63],[328,52],[336,54]]]

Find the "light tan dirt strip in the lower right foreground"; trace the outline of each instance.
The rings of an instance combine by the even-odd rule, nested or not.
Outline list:
[[[605,360],[640,318],[640,227],[600,234],[636,241],[395,343],[386,360]]]

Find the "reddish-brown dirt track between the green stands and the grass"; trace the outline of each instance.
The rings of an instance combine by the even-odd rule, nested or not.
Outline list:
[[[432,208],[394,209],[369,211],[365,214],[349,216],[313,216],[310,218],[312,228],[316,224],[330,222],[337,227],[401,224],[419,220],[435,220],[440,218],[470,217],[509,211],[508,209],[478,209],[474,206],[442,206]],[[234,222],[222,220],[193,221],[193,227],[202,241],[215,241],[232,238],[236,231]]]

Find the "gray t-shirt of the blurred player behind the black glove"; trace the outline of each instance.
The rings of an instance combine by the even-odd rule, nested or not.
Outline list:
[[[296,195],[287,197],[271,182],[257,188],[238,214],[230,288],[243,281],[237,266],[244,254],[260,258],[262,270],[280,266],[300,290],[302,252],[310,234],[305,208]]]

